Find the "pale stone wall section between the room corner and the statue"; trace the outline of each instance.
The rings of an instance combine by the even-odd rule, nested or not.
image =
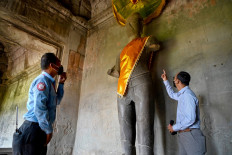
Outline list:
[[[121,152],[117,80],[106,72],[128,41],[125,35],[119,35],[124,32],[112,18],[102,29],[91,30],[88,35],[73,154],[118,155]]]

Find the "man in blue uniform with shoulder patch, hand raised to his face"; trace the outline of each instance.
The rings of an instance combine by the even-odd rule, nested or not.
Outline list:
[[[52,138],[56,106],[63,97],[67,77],[53,53],[42,56],[41,69],[42,74],[34,79],[29,89],[25,121],[13,135],[14,155],[46,155],[47,144]],[[60,79],[56,92],[54,77],[57,74]]]

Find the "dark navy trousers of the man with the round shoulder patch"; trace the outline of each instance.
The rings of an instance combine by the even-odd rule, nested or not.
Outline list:
[[[46,155],[46,133],[41,130],[38,123],[24,121],[19,132],[13,135],[14,155]]]

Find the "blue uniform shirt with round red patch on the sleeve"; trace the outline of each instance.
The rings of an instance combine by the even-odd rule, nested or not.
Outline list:
[[[28,112],[24,114],[24,119],[38,122],[46,134],[52,133],[52,124],[56,118],[56,105],[60,104],[64,94],[63,86],[59,84],[56,92],[55,80],[51,75],[42,72],[37,76],[29,89]]]

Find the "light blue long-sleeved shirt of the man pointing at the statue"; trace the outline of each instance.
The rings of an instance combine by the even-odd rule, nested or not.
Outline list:
[[[168,95],[178,101],[176,124],[174,131],[187,128],[200,128],[199,102],[194,92],[185,86],[178,93],[175,93],[168,80],[164,81]]]

